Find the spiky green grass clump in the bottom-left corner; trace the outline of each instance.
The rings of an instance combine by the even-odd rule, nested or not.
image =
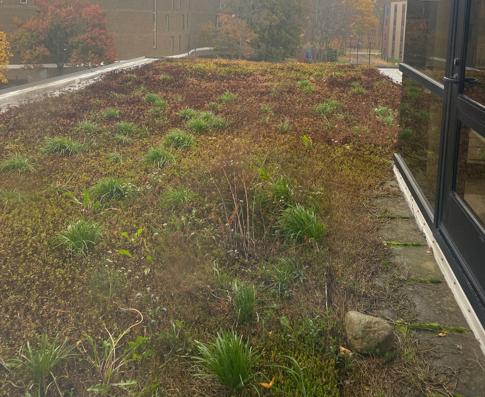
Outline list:
[[[7,361],[7,367],[20,374],[27,375],[29,379],[28,390],[33,392],[34,396],[47,396],[49,389],[53,386],[57,388],[59,396],[63,393],[59,389],[54,373],[57,367],[70,358],[75,358],[77,354],[72,353],[75,345],[68,345],[69,339],[59,340],[61,333],[49,342],[46,333],[38,338],[37,346],[27,345],[20,348],[18,355]],[[55,393],[54,393],[55,394]],[[27,393],[26,395],[29,395]]]

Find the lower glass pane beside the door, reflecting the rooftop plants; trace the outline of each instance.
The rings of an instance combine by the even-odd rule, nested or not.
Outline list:
[[[398,153],[435,207],[442,100],[403,75]]]

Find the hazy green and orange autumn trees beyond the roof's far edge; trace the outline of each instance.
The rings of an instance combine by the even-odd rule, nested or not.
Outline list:
[[[285,60],[303,45],[317,61],[337,60],[352,32],[374,29],[375,0],[223,0],[217,26],[201,26],[199,43],[236,59]]]

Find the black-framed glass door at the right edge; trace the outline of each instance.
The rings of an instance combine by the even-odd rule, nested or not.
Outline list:
[[[436,230],[485,302],[485,4],[455,1]]]

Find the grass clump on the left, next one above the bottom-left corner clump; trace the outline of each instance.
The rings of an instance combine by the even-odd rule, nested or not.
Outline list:
[[[72,254],[82,253],[86,256],[102,237],[99,223],[92,221],[71,221],[61,233],[57,235],[61,245],[64,245]]]

